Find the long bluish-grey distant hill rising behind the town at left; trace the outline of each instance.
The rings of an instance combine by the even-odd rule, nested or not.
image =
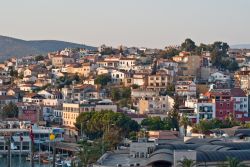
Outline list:
[[[92,46],[65,41],[25,41],[6,36],[0,36],[0,60],[5,60],[13,56],[24,57],[29,55],[46,54],[48,52],[63,50],[65,48],[86,48],[90,50],[96,49]]]

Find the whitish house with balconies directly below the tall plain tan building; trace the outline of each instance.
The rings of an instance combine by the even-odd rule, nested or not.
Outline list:
[[[177,81],[175,92],[179,96],[196,96],[196,84],[193,81]]]

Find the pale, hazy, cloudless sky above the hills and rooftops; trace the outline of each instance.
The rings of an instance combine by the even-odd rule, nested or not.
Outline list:
[[[164,48],[250,43],[250,0],[0,0],[0,35]]]

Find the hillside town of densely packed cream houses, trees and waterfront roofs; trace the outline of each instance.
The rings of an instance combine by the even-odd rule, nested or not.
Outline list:
[[[186,39],[13,55],[0,113],[8,165],[250,166],[250,49]]]

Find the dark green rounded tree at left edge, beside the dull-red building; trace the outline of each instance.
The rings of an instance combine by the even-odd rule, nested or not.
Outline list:
[[[13,102],[10,102],[9,104],[6,104],[3,107],[2,112],[3,118],[16,118],[18,117],[18,107]]]

